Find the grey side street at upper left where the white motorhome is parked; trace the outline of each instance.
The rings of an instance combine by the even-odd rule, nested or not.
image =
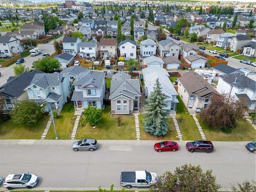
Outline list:
[[[61,38],[61,37],[60,37]],[[38,44],[37,47],[39,47],[42,50],[42,53],[49,53],[53,54],[55,52],[54,47],[53,47],[53,41],[48,42],[47,44]],[[30,55],[25,57],[25,62],[23,65],[26,67],[32,68],[32,64],[35,60],[38,58],[41,58],[42,54],[39,54],[37,56],[31,57]],[[7,79],[10,76],[14,76],[13,72],[13,67],[16,64],[14,63],[13,65],[7,67],[7,68],[0,68],[1,76],[0,76],[0,86],[5,84],[7,82]]]

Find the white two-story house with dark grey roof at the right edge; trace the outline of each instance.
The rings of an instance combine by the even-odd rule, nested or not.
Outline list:
[[[249,110],[256,109],[256,84],[255,80],[246,77],[241,73],[220,75],[217,85],[219,93],[227,93],[241,101],[244,101]]]

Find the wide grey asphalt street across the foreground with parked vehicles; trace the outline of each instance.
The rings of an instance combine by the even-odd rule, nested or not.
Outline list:
[[[232,143],[232,144],[231,144]],[[152,146],[104,145],[94,152],[73,152],[70,146],[0,145],[0,176],[10,173],[37,174],[35,189],[55,187],[120,187],[120,172],[144,170],[158,175],[185,163],[212,169],[223,189],[245,180],[255,181],[255,154],[246,142],[216,142],[215,152],[189,153],[185,142],[177,152],[157,153]],[[180,144],[180,143],[179,143]],[[18,155],[17,155],[18,154]],[[4,190],[3,184],[0,190]]]

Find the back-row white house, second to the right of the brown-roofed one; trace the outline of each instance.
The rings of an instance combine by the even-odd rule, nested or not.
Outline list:
[[[157,44],[152,39],[146,39],[140,42],[140,55],[142,57],[148,57],[156,55]]]

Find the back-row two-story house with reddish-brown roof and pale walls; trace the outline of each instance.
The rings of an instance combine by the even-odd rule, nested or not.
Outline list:
[[[116,38],[101,38],[99,41],[99,52],[102,57],[117,56],[117,40]]]

